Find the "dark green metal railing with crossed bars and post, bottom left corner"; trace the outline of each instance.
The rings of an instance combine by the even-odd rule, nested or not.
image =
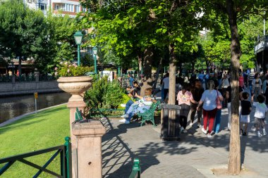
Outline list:
[[[72,157],[71,157],[70,137],[66,136],[65,141],[66,142],[61,146],[54,146],[54,147],[42,149],[39,151],[33,151],[30,153],[24,153],[21,155],[14,155],[14,156],[11,156],[8,158],[0,159],[0,164],[6,163],[6,165],[4,165],[4,167],[2,167],[0,170],[0,176],[4,172],[6,172],[6,170],[8,170],[8,168],[11,167],[11,165],[13,165],[13,163],[15,163],[16,161],[19,161],[21,163],[25,163],[26,165],[30,165],[31,167],[35,167],[37,170],[39,170],[32,178],[39,177],[39,174],[41,174],[42,172],[47,172],[47,173],[52,174],[56,177],[71,178],[72,177],[72,169],[71,169],[71,167],[72,167],[71,158]],[[25,160],[25,158],[28,158],[28,157],[31,157],[34,155],[41,155],[44,153],[49,153],[51,151],[56,151],[56,153],[54,153],[54,155],[52,155],[51,158],[49,158],[49,160],[47,161],[47,163],[45,163],[42,167],[39,165],[36,165],[35,163],[32,163],[28,160]],[[52,172],[51,170],[47,170],[47,166],[59,154],[61,156],[61,174],[57,174],[56,172]]]

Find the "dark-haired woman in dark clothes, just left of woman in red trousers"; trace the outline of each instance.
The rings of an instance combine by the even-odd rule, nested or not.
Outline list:
[[[193,121],[195,120],[195,113],[197,111],[197,128],[201,128],[202,109],[196,110],[196,108],[204,92],[202,82],[200,82],[200,80],[195,80],[193,82],[193,86],[190,89],[190,92],[193,96],[190,98],[190,126],[193,125]]]

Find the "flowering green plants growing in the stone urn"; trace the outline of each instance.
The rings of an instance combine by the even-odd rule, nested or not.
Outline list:
[[[83,76],[87,72],[92,72],[94,67],[78,66],[76,63],[61,62],[59,68],[55,68],[55,75],[59,77],[75,77]]]

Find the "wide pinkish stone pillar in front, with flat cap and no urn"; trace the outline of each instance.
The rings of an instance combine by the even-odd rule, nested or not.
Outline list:
[[[99,120],[83,120],[73,123],[72,129],[78,153],[77,177],[102,178],[102,136],[106,132],[105,127]]]

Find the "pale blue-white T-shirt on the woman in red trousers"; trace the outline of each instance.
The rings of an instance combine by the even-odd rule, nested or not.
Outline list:
[[[200,101],[204,101],[203,109],[214,110],[214,108],[217,107],[217,103],[216,103],[217,92],[218,92],[218,95],[221,96],[221,92],[216,91],[214,89],[212,91],[209,91],[209,89],[204,91],[200,99]]]

